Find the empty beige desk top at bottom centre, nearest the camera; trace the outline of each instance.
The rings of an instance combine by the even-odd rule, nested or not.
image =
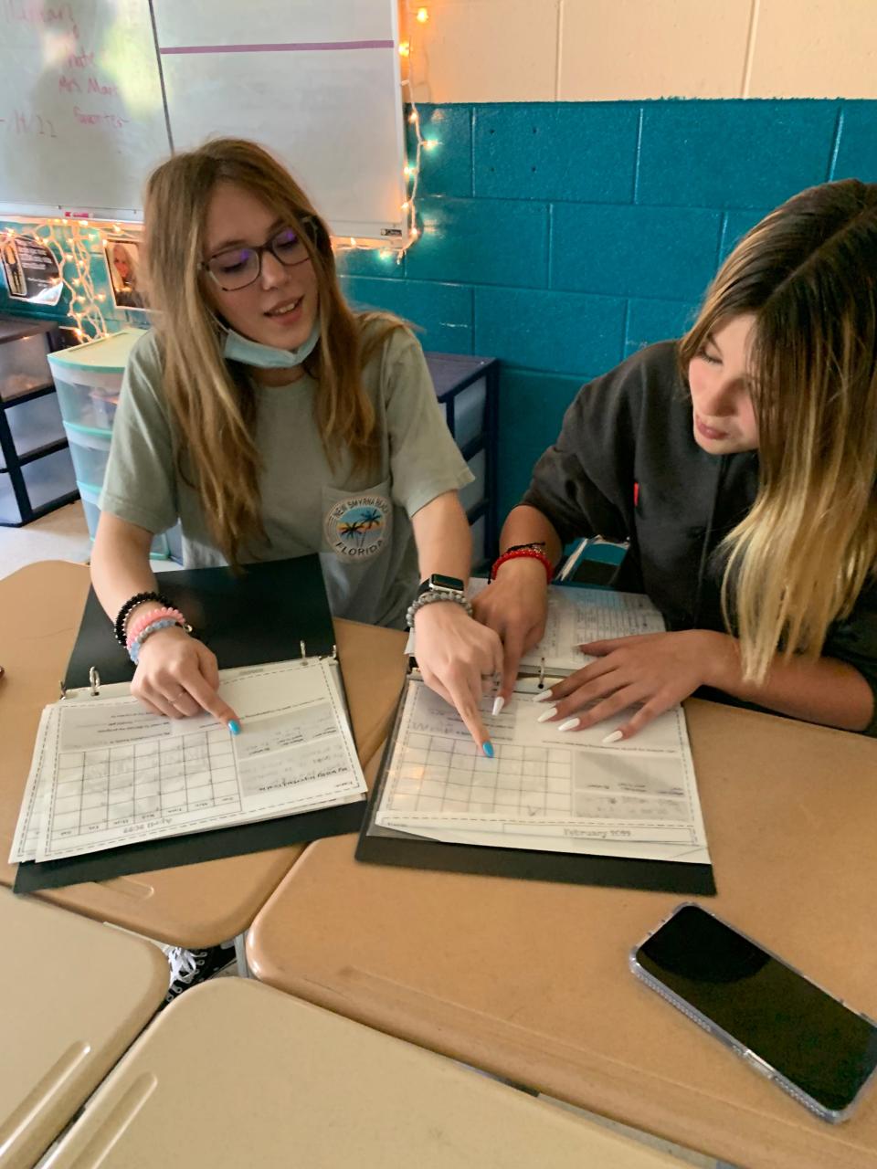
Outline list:
[[[53,1169],[670,1169],[663,1153],[256,982],[164,1011]]]

